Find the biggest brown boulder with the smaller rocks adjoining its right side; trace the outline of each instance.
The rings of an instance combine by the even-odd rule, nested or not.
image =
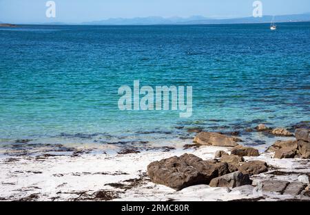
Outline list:
[[[238,155],[232,156],[238,157]],[[228,160],[230,155],[226,155],[223,158]],[[234,166],[234,168],[231,168],[231,166]],[[262,166],[264,167],[262,168]],[[147,166],[147,173],[152,182],[166,185],[175,190],[182,190],[197,184],[234,188],[240,185],[251,184],[249,175],[262,171],[267,171],[267,164],[265,162],[244,162],[242,158],[236,159],[236,161],[233,158],[229,163],[218,161],[217,159],[204,161],[192,154],[154,161]]]

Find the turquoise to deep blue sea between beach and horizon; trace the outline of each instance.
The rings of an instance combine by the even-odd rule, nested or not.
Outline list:
[[[0,138],[310,120],[310,23],[0,28]],[[189,85],[194,112],[119,111],[118,87]],[[143,138],[142,138],[143,139]]]

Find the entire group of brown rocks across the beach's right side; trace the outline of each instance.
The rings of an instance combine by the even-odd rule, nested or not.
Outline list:
[[[284,128],[272,130],[263,126],[259,126],[259,128],[274,135],[291,135]],[[274,152],[275,158],[310,158],[309,134],[309,129],[298,128],[295,133],[296,139],[278,141],[269,147],[268,151]],[[268,166],[265,161],[245,161],[244,157],[257,157],[260,153],[256,148],[241,146],[238,142],[241,142],[238,137],[200,132],[194,138],[194,144],[231,147],[230,154],[224,150],[218,150],[215,153],[215,159],[210,160],[203,160],[192,154],[184,154],[180,157],[175,156],[154,161],[147,166],[149,178],[154,183],[167,185],[175,190],[182,190],[191,185],[207,184],[211,187],[248,189],[249,192],[300,195],[301,199],[310,199],[310,176],[304,174],[300,175],[304,178],[299,179],[298,177],[298,181],[293,182],[271,179],[260,180],[258,183],[251,181],[251,176],[267,172]]]

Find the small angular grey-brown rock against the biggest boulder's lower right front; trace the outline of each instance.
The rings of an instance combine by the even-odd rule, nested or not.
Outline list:
[[[249,179],[248,174],[242,174],[242,172],[232,172],[225,174],[221,177],[212,179],[210,187],[229,187],[236,188],[242,185],[249,185],[252,181]]]

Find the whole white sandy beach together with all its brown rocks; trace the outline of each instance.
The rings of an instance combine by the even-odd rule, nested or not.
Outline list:
[[[51,146],[37,156],[10,154],[0,158],[0,200],[310,201],[309,127],[291,133],[260,124],[251,132],[286,139],[262,152],[236,133],[196,131],[181,149],[109,154],[59,145],[64,154]]]

